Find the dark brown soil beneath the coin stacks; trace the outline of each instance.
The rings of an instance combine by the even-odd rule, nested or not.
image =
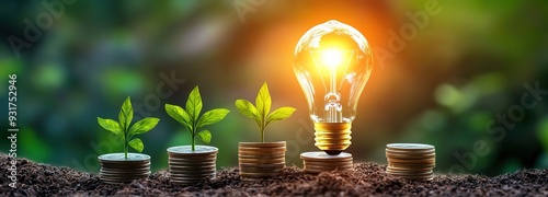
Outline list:
[[[18,159],[18,188],[8,184],[11,159],[0,153],[0,196],[548,196],[548,170],[523,170],[495,177],[442,175],[413,182],[385,173],[386,165],[357,163],[353,172],[305,174],[288,166],[274,178],[241,182],[237,167],[218,171],[203,184],[171,184],[165,171],[129,184],[104,184],[99,175]]]

